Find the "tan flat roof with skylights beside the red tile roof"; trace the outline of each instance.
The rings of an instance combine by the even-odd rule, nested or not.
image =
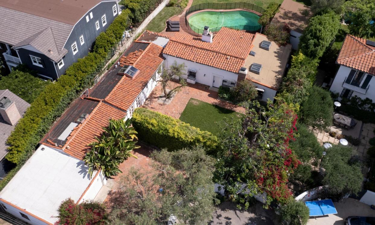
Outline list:
[[[245,60],[244,67],[248,69],[246,79],[271,89],[278,90],[284,75],[285,67],[288,63],[292,45],[287,44],[285,46],[278,46],[272,41],[270,49],[266,50],[260,48],[260,44],[264,40],[268,40],[267,36],[260,33],[255,34],[252,51],[256,54],[255,56],[248,55]],[[260,74],[255,74],[250,71],[250,67],[253,63],[258,63],[263,66]]]

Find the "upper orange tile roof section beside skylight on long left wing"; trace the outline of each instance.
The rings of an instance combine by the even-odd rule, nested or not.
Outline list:
[[[138,74],[133,78],[123,76],[104,101],[128,110],[163,62],[162,50],[161,46],[150,43],[138,58],[135,59],[136,54],[129,54],[124,61],[138,69]]]

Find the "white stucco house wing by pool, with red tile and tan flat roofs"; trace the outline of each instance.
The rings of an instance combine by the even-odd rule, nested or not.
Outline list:
[[[206,32],[202,39],[184,33],[168,37],[152,32],[144,33],[139,39],[154,39],[155,43],[169,38],[163,49],[165,67],[174,62],[184,63],[186,74],[183,78],[189,83],[234,87],[239,81],[248,79],[257,88],[260,100],[275,98],[291,53],[290,44],[278,46],[263,34],[226,27],[215,35],[209,32],[209,28]],[[205,37],[208,42],[204,41]],[[269,48],[261,48],[266,42],[270,43]],[[254,70],[257,65],[260,69]]]

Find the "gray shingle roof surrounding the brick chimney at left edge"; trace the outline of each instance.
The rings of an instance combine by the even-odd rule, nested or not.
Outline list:
[[[0,98],[7,97],[10,100],[14,101],[16,104],[16,107],[18,109],[18,112],[21,116],[25,114],[25,111],[30,106],[26,101],[18,97],[17,95],[10,92],[8,89],[6,90],[0,90]],[[3,159],[3,157],[6,155],[6,139],[8,139],[8,136],[13,131],[14,126],[10,125],[9,123],[6,123],[0,115],[0,160]]]

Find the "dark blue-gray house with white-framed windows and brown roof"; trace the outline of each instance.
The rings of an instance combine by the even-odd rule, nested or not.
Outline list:
[[[0,57],[55,80],[87,55],[119,14],[118,0],[0,0]]]

